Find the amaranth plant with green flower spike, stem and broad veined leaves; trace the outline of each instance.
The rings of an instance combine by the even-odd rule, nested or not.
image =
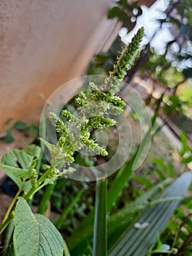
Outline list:
[[[126,70],[131,67],[134,59],[138,56],[139,43],[143,35],[144,29],[141,28],[137,31],[128,47],[122,51],[114,70],[110,72],[110,79],[106,79],[100,88],[94,83],[89,83],[88,94],[82,92],[75,99],[80,117],[72,115],[67,110],[62,111],[66,121],[79,129],[78,135],[74,135],[66,123],[58,116],[50,113],[55,129],[61,134],[61,137],[58,139],[57,145],[52,145],[42,140],[51,154],[51,166],[42,176],[39,176],[38,170],[41,159],[40,154],[37,152],[38,147],[28,147],[23,151],[14,150],[12,153],[4,155],[0,166],[15,181],[19,189],[1,223],[0,232],[2,233],[11,220],[14,220],[13,241],[16,256],[25,255],[26,249],[31,245],[31,241],[32,244],[36,244],[36,248],[29,255],[61,255],[62,248],[64,248],[61,235],[48,219],[39,214],[32,214],[26,200],[31,199],[39,189],[42,189],[47,184],[52,184],[58,176],[61,176],[55,167],[61,163],[70,164],[74,162],[74,152],[80,150],[80,148],[85,151],[93,151],[94,154],[107,156],[107,151],[100,147],[95,140],[91,139],[90,129],[111,127],[115,124],[115,121],[109,118],[110,114],[118,115],[123,113],[125,103],[115,95],[115,92],[118,91],[118,86],[120,81],[123,80]],[[97,102],[96,109],[93,108],[93,101]],[[13,210],[15,203],[16,207]],[[28,229],[26,229],[26,223],[28,223]],[[47,225],[47,231],[44,224],[45,226]],[[32,235],[32,238],[30,236],[31,230],[35,234],[35,236]],[[44,236],[48,236],[48,242],[44,240]],[[24,242],[26,237],[28,239]],[[53,246],[54,243],[57,246]],[[54,249],[51,249],[51,246]]]

